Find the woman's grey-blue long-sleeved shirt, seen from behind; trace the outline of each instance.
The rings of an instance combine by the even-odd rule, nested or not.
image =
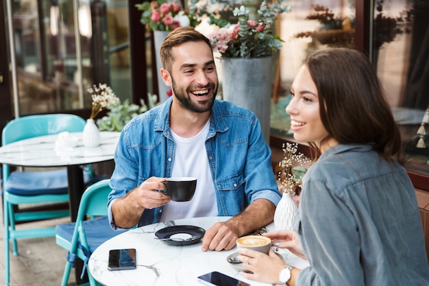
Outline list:
[[[303,178],[295,230],[310,266],[297,286],[428,286],[415,189],[370,145],[331,147]]]

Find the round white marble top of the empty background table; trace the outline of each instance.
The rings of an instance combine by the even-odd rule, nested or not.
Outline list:
[[[38,136],[0,147],[0,163],[23,167],[64,167],[112,160],[121,132],[100,132],[100,145],[85,147],[82,132],[75,147],[56,147],[58,134]]]

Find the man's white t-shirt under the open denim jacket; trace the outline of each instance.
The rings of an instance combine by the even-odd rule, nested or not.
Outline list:
[[[186,217],[217,216],[217,200],[212,175],[208,167],[206,137],[210,120],[206,126],[191,138],[182,138],[171,131],[175,142],[175,154],[171,177],[195,177],[197,187],[189,202],[170,201],[164,206],[161,221]]]

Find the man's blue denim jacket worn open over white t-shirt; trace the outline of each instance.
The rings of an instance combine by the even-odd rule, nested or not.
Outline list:
[[[171,176],[175,154],[169,126],[171,102],[169,98],[138,115],[121,132],[108,198],[109,219],[114,229],[118,228],[112,222],[112,200],[123,197],[151,176]],[[271,150],[251,111],[215,100],[206,152],[219,215],[237,215],[260,198],[277,206],[281,195],[271,168]],[[159,222],[162,208],[146,209],[138,226]]]

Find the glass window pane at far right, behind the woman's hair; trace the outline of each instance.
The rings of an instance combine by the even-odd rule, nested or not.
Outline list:
[[[428,15],[428,1],[376,1],[372,45],[373,65],[402,133],[406,169],[426,176],[429,176]]]

